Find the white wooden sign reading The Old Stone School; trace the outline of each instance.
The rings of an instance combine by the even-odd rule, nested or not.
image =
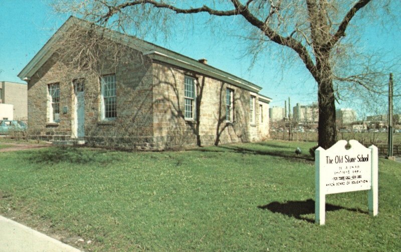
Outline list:
[[[316,223],[325,222],[326,194],[368,190],[368,209],[378,211],[377,147],[364,147],[356,140],[340,140],[329,149],[315,150]]]

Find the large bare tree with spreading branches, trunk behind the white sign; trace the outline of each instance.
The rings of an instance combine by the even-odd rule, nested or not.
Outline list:
[[[349,55],[348,47],[357,41],[358,34],[346,32],[358,13],[369,16],[376,12],[377,17],[385,17],[386,11],[394,7],[391,5],[399,4],[391,0],[211,0],[202,3],[204,5],[192,7],[192,3],[175,0],[57,0],[54,7],[59,13],[73,13],[121,31],[133,28],[138,34],[140,31],[163,32],[165,36],[170,34],[179,17],[206,13],[217,22],[227,22],[224,17],[234,17],[240,34],[248,34],[244,37],[250,39],[255,55],[263,53],[269,43],[278,44],[290,49],[290,55],[298,57],[316,80],[318,144],[328,148],[337,138],[335,100],[341,98],[341,89],[362,87],[376,91],[376,78],[382,73],[369,57],[365,58],[364,65],[352,61],[354,57]]]

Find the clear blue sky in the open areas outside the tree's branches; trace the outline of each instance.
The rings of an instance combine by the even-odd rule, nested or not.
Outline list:
[[[0,0],[0,81],[24,83],[17,77],[18,73],[67,19],[68,15],[54,14],[44,0]],[[396,19],[400,25],[401,17]],[[386,31],[380,29],[380,26],[369,26],[361,38],[361,48],[382,52],[383,57],[400,58],[399,27],[389,23],[385,25]],[[273,98],[272,106],[284,107],[288,97],[291,106],[317,100],[315,81],[298,59],[291,67],[282,67],[280,55],[262,55],[249,69],[251,59],[243,57],[243,44],[237,38],[224,36],[218,29],[211,33],[189,28],[185,34],[175,34],[167,42],[147,39],[194,59],[207,58],[210,65],[261,86],[261,93]],[[352,103],[337,107],[357,109]]]

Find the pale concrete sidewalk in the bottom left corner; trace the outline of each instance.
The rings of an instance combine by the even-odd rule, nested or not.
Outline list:
[[[82,252],[52,237],[0,216],[0,251]]]

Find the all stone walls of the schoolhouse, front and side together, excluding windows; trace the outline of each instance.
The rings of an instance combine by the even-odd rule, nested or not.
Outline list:
[[[125,50],[122,48],[121,50]],[[165,63],[151,61],[126,49],[118,64],[107,64],[100,73],[79,72],[54,54],[31,78],[28,85],[28,118],[31,138],[69,140],[74,137],[74,79],[84,79],[85,137],[93,146],[126,149],[177,149],[259,141],[268,132],[268,104],[264,123],[259,123],[259,100],[255,99],[255,122],[250,120],[251,93],[237,86]],[[100,77],[116,76],[117,117],[102,120]],[[196,115],[184,119],[184,77],[196,81]],[[49,122],[48,85],[60,84],[60,122]],[[234,116],[226,121],[226,89],[234,91]],[[265,128],[267,130],[265,131]],[[266,134],[265,134],[266,133]]]

